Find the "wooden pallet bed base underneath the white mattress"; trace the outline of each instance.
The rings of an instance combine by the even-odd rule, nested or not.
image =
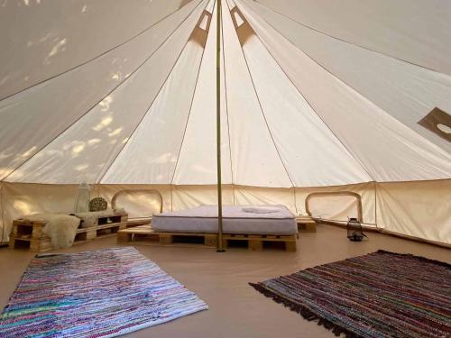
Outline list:
[[[159,242],[162,245],[172,244],[183,237],[201,237],[207,247],[215,247],[217,233],[166,233],[156,232],[151,225],[141,225],[129,229],[120,230],[117,233],[119,243],[137,243],[144,241]],[[296,251],[296,235],[254,235],[254,234],[230,234],[223,235],[223,246],[226,248],[229,241],[247,241],[248,248],[252,251],[263,249],[263,242],[283,242],[286,251]]]

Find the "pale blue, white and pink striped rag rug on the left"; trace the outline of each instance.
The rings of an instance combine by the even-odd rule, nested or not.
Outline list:
[[[131,247],[41,254],[0,317],[0,337],[114,337],[205,309]]]

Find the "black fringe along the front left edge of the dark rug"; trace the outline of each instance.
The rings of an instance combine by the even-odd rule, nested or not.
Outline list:
[[[272,300],[274,300],[276,303],[279,303],[285,307],[289,307],[291,311],[296,312],[299,315],[302,315],[309,322],[318,320],[318,325],[324,326],[325,328],[327,328],[327,330],[332,331],[332,333],[334,333],[336,336],[339,336],[340,334],[344,333],[346,338],[358,338],[359,337],[358,334],[355,334],[355,333],[349,331],[345,327],[340,326],[338,324],[334,324],[325,318],[321,318],[320,316],[318,316],[317,314],[312,312],[310,309],[308,309],[308,307],[301,306],[297,303],[293,303],[290,300],[277,295],[276,293],[272,292],[268,288],[264,288],[260,284],[249,283],[249,285],[251,287],[255,288],[262,295],[272,298]]]

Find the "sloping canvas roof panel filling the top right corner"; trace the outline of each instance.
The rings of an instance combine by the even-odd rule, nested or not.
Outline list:
[[[247,0],[246,0],[247,1]],[[285,23],[451,75],[451,5],[443,0],[256,0]]]

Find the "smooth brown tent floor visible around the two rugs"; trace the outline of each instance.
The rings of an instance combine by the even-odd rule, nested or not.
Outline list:
[[[317,233],[301,233],[298,252],[247,251],[243,248],[216,253],[198,246],[136,248],[162,269],[196,292],[209,309],[167,324],[128,334],[127,337],[334,337],[315,322],[276,304],[248,286],[248,282],[271,279],[318,264],[362,255],[379,249],[425,256],[451,262],[451,251],[380,233],[367,233],[365,242],[349,242],[345,229],[318,225]],[[97,239],[60,252],[88,251],[117,246],[115,237]],[[0,306],[14,292],[33,254],[0,249]]]

